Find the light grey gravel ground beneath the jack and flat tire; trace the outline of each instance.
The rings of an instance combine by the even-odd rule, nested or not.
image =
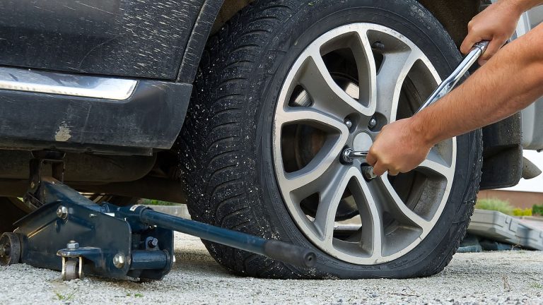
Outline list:
[[[458,253],[443,273],[413,280],[260,280],[223,270],[194,237],[176,236],[175,269],[140,284],[28,265],[0,268],[1,304],[543,304],[543,252]]]

